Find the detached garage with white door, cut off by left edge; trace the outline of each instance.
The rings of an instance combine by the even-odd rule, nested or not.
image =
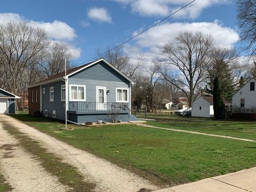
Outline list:
[[[20,97],[0,88],[0,114],[15,114],[15,99]]]

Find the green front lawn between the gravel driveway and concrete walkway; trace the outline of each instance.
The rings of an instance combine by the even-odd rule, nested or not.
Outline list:
[[[131,124],[99,127],[69,124],[75,130],[59,130],[64,125],[58,121],[29,115],[12,116],[70,145],[132,170],[158,185],[178,185],[256,166],[256,142]],[[189,126],[190,123],[179,119],[175,121],[184,127]]]

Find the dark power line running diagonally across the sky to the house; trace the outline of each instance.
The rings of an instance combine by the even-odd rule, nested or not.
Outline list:
[[[127,43],[127,42],[131,41],[132,39],[138,37],[138,36],[141,35],[142,33],[145,33],[146,31],[148,31],[149,29],[155,27],[156,25],[158,25],[159,23],[163,22],[164,20],[170,18],[172,15],[174,15],[175,13],[177,13],[177,12],[179,12],[180,10],[184,9],[184,8],[187,7],[188,5],[194,3],[195,1],[196,1],[196,0],[193,0],[193,1],[189,2],[188,4],[182,6],[182,7],[181,7],[180,9],[178,9],[177,11],[174,11],[172,14],[170,14],[170,15],[168,15],[167,17],[165,17],[164,19],[162,19],[162,20],[156,22],[154,25],[150,26],[149,28],[147,28],[147,29],[141,31],[141,32],[138,33],[137,35],[134,35],[134,36],[131,37],[130,39],[127,39],[125,42],[123,42],[123,43],[121,43],[121,44],[115,46],[114,48],[112,48],[112,49],[106,51],[105,53],[101,53],[101,54],[98,55],[97,57],[94,57],[94,58],[92,58],[92,59],[90,59],[90,60],[87,60],[87,61],[85,61],[85,62],[82,62],[82,63],[80,63],[79,65],[82,65],[83,63],[86,63],[86,62],[89,62],[89,61],[91,61],[91,60],[97,59],[98,57],[102,56],[103,54],[106,54],[107,52],[113,51],[113,50],[116,49],[117,47],[124,45],[125,43]],[[78,66],[79,66],[79,65],[78,65]]]

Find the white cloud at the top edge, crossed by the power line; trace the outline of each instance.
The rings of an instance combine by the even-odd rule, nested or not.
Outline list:
[[[177,11],[182,6],[191,2],[191,0],[111,0],[126,5],[130,5],[134,13],[139,13],[142,16],[167,16],[174,11]],[[231,0],[197,0],[187,6],[185,9],[173,15],[175,18],[186,17],[195,19],[203,9],[212,6],[213,4],[231,3]]]

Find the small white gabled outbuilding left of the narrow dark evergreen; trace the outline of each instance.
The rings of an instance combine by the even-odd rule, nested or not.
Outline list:
[[[223,98],[225,106],[231,106],[231,103]],[[213,117],[213,97],[201,96],[192,103],[192,117]]]

